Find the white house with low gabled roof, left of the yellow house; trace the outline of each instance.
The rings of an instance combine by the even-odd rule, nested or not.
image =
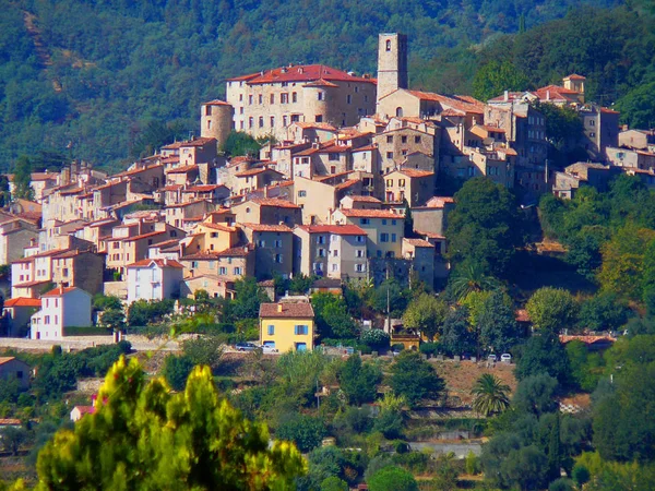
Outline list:
[[[128,303],[179,295],[184,266],[167,259],[145,259],[128,266]]]

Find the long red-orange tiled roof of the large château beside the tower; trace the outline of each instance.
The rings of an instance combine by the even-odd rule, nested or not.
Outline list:
[[[348,75],[342,70],[336,70],[324,64],[303,64],[296,67],[281,67],[273,70],[242,75],[231,81],[247,81],[248,85],[270,84],[281,82],[312,82],[312,81],[331,81],[331,82],[364,82],[374,84],[373,79],[365,79],[361,76]]]

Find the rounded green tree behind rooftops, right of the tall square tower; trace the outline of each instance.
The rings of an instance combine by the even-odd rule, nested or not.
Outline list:
[[[528,88],[527,76],[510,61],[490,61],[473,79],[473,96],[485,103],[502,95],[503,91],[525,92]]]

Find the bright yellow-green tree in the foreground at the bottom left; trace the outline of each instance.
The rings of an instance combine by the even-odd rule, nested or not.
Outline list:
[[[206,367],[171,394],[121,357],[97,400],[39,453],[39,489],[290,489],[306,471],[294,445],[218,397]]]

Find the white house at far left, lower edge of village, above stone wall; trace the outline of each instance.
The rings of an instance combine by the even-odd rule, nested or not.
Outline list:
[[[58,287],[41,296],[41,308],[32,315],[32,339],[61,339],[66,327],[88,327],[91,294]]]

